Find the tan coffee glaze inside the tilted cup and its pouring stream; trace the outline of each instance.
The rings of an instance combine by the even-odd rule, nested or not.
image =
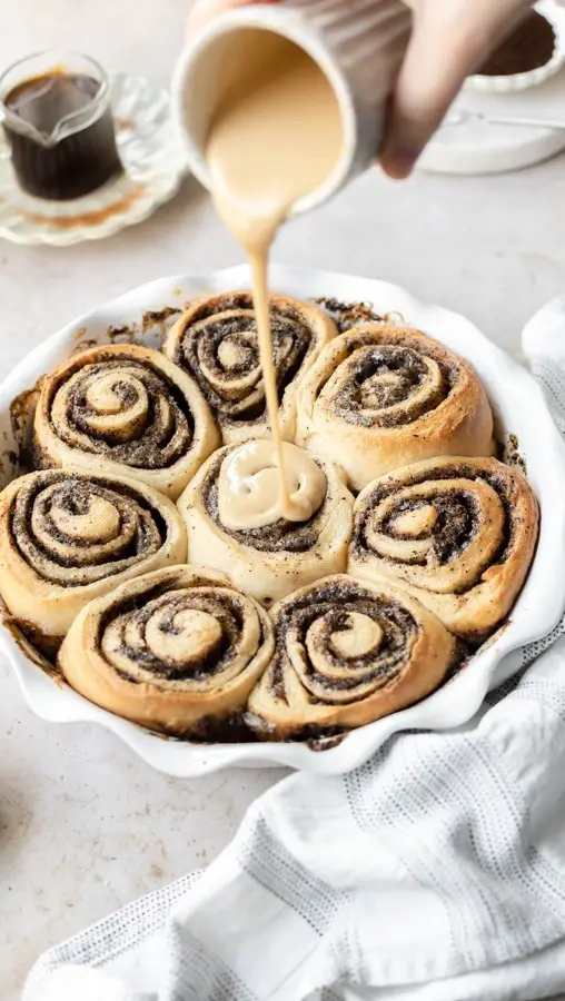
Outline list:
[[[343,146],[341,116],[329,80],[304,49],[274,32],[249,30],[246,36],[244,48],[249,47],[252,59],[218,107],[206,152],[218,214],[251,266],[280,515],[299,522],[305,508],[289,489],[289,478],[296,478],[295,456],[282,449],[278,422],[268,256],[295,202],[323,185],[336,167]]]

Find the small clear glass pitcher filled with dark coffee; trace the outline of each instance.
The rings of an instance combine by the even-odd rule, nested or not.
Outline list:
[[[108,80],[93,60],[60,52],[30,57],[4,73],[0,96],[4,135],[24,191],[79,198],[121,171]]]

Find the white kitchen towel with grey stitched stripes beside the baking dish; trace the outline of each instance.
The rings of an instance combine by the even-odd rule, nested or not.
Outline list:
[[[525,348],[565,432],[565,298],[549,314],[553,335],[534,320]],[[398,734],[350,775],[279,782],[206,872],[47,952],[23,1001],[564,988],[565,620],[459,731]]]

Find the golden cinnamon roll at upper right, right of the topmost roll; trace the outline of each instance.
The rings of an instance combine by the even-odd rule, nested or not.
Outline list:
[[[323,350],[297,395],[297,445],[354,489],[434,455],[490,455],[493,416],[470,366],[409,327],[366,324]]]

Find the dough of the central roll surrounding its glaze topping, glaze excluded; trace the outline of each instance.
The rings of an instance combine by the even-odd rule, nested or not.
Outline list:
[[[269,606],[304,584],[345,571],[351,537],[353,496],[335,463],[314,460],[295,446],[287,445],[286,449],[304,456],[315,472],[321,474],[321,503],[304,522],[278,517],[274,523],[258,527],[226,527],[220,505],[222,468],[256,444],[269,445],[267,442],[247,443],[216,452],[189,484],[178,507],[187,527],[190,562],[221,571],[247,594]],[[272,448],[270,450],[274,453]],[[249,497],[244,497],[242,503],[249,503],[254,480],[260,478],[261,472],[249,475],[248,484],[244,483]],[[274,484],[269,483],[271,485],[278,490],[278,477],[274,478]],[[270,493],[266,492],[267,506],[272,499]]]

